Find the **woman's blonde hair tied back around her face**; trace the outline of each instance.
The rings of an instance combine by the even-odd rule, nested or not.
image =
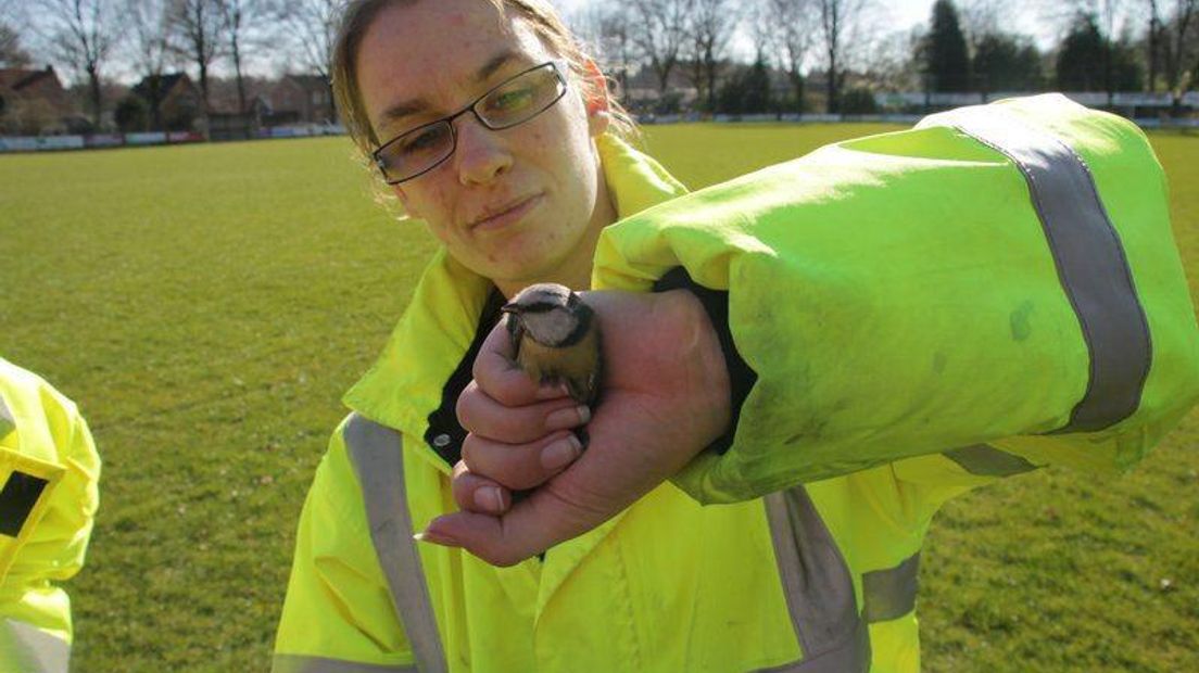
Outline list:
[[[333,62],[330,67],[333,85],[333,98],[341,113],[350,138],[357,146],[363,160],[370,163],[370,153],[379,146],[370,120],[362,104],[362,91],[357,81],[357,51],[362,38],[380,11],[391,5],[414,5],[420,0],[350,0],[342,10],[337,42],[333,44]],[[436,1],[436,0],[429,0]],[[558,12],[546,0],[480,0],[490,2],[500,12],[511,10],[523,19],[541,40],[547,49],[564,59],[571,66],[572,79],[582,86],[588,98],[608,96],[607,78],[596,80],[589,73],[588,63],[592,59],[583,49]],[[601,84],[601,81],[603,84]],[[625,108],[616,101],[610,101],[611,123],[609,133],[626,140],[638,137],[637,123]]]

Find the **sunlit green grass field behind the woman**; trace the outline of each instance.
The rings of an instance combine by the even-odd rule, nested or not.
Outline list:
[[[699,187],[870,126],[651,128]],[[1199,137],[1152,141],[1199,279]],[[104,459],[71,583],[76,671],[265,671],[339,396],[432,244],[345,139],[0,156],[0,354]],[[1199,416],[1116,480],[1044,471],[951,503],[923,556],[930,672],[1199,671]],[[1168,583],[1167,583],[1168,581]]]

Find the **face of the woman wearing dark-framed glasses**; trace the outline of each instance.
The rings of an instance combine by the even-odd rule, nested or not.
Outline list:
[[[359,86],[386,143],[555,57],[523,20],[489,2],[392,5],[362,40]],[[594,141],[607,123],[607,101],[585,101],[574,83],[512,128],[489,131],[462,115],[454,153],[394,186],[396,195],[451,255],[507,295],[546,280],[579,286],[582,277],[585,286],[595,241],[614,218]]]

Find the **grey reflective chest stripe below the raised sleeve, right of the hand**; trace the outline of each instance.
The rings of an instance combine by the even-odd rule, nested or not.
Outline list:
[[[802,660],[771,671],[869,671],[869,633],[857,614],[852,576],[808,492],[796,486],[765,501],[787,608],[803,651]]]

